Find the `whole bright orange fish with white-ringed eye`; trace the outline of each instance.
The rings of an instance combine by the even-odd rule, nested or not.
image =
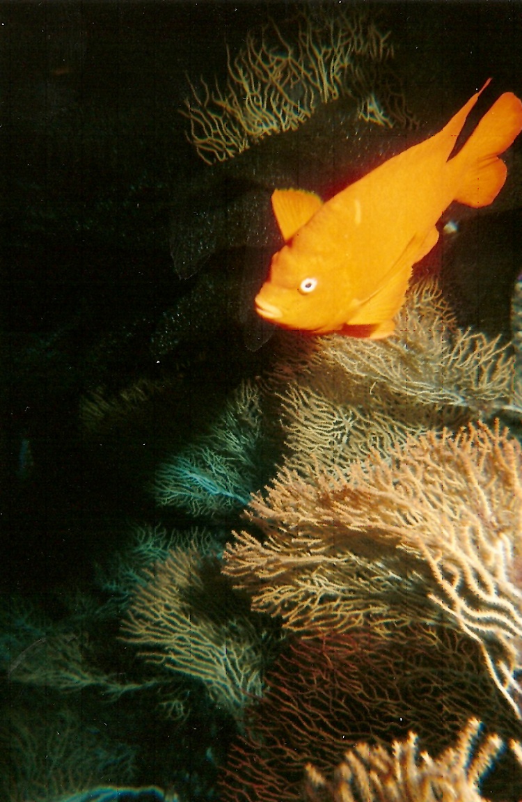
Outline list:
[[[497,156],[522,130],[512,92],[451,152],[484,87],[435,136],[387,160],[323,204],[314,192],[277,189],[272,206],[285,245],[256,298],[262,318],[314,334],[378,339],[395,329],[415,262],[439,239],[452,201],[478,208],[495,199],[507,168]]]

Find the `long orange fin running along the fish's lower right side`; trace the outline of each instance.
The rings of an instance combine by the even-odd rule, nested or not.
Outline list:
[[[399,259],[379,282],[377,289],[360,302],[358,310],[346,321],[346,325],[376,325],[374,333],[370,335],[374,339],[391,334],[393,329],[390,330],[390,322],[403,306],[411,269],[416,261],[431,251],[438,239],[439,232],[435,227],[424,236],[412,237]],[[381,325],[383,333],[379,334]]]

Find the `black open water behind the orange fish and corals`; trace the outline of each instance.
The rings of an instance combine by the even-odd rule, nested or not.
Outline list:
[[[353,108],[333,104],[317,124],[317,146],[302,135],[281,144],[272,136],[208,165],[180,115],[187,76],[222,82],[226,46],[237,52],[269,19],[284,26],[293,4],[0,3],[4,799],[58,802],[101,787],[108,790],[85,799],[217,798],[216,777],[241,726],[188,673],[167,680],[168,694],[190,699],[187,717],[166,715],[157,668],[119,638],[130,591],[111,595],[107,572],[136,526],[186,533],[207,525],[218,560],[241,527],[241,501],[216,520],[182,505],[159,509],[150,488],[166,456],[194,444],[241,380],[257,381],[273,363],[274,338],[253,313],[279,247],[272,189],[293,176],[337,191],[376,155],[438,130],[488,77],[483,111],[502,91],[522,95],[518,4],[369,7],[392,32],[415,131],[358,128],[343,150],[336,126],[353,124]],[[448,214],[459,230],[435,254],[459,322],[504,337],[521,272],[520,144],[508,168],[494,208]],[[121,403],[129,388],[134,402]],[[120,400],[111,408],[99,401],[90,416],[93,394],[109,407]],[[261,444],[249,492],[273,476],[281,439]],[[210,589],[221,587],[212,565]],[[224,606],[234,603],[241,614],[248,607],[243,597]],[[53,684],[53,655],[71,639],[91,671],[141,690],[111,696],[102,682]],[[29,658],[37,678],[20,680],[19,661]],[[60,727],[74,749],[60,751]],[[118,784],[127,796],[111,790]],[[250,798],[237,794],[225,798]]]

